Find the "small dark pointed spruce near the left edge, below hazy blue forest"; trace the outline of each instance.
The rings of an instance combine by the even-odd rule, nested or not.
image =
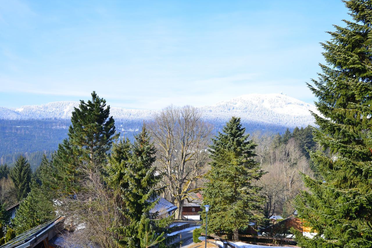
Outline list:
[[[20,201],[30,192],[32,171],[26,158],[20,155],[15,162],[14,168],[10,172],[15,188],[17,200]]]

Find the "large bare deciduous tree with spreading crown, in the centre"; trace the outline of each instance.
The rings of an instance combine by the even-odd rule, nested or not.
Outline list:
[[[166,107],[155,116],[151,127],[157,166],[164,173],[166,196],[178,207],[176,219],[181,219],[183,202],[195,190],[195,183],[206,166],[212,127],[191,106]]]

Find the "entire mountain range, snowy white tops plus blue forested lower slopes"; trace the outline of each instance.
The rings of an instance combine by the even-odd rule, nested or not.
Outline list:
[[[42,154],[48,158],[67,136],[71,113],[78,102],[52,102],[22,106],[17,109],[0,108],[0,164],[13,164],[24,155],[35,168]],[[213,127],[212,133],[222,130],[231,116],[240,116],[248,133],[255,131],[284,133],[286,128],[313,125],[311,104],[283,94],[248,94],[211,106],[198,107],[201,118]],[[143,121],[152,123],[158,110],[123,109],[111,107],[116,131],[133,141]]]

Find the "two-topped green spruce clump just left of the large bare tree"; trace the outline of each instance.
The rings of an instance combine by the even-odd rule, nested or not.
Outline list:
[[[133,145],[128,140],[113,145],[108,183],[120,196],[123,206],[125,223],[115,230],[121,247],[147,247],[149,242],[166,242],[163,231],[171,219],[155,221],[157,214],[150,213],[162,190],[157,188],[162,175],[155,174],[154,162],[155,147],[150,143],[145,125],[135,136]]]

